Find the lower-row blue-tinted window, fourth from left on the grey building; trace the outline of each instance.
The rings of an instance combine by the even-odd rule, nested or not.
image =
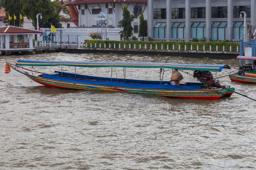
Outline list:
[[[227,40],[227,22],[212,23],[212,40]]]

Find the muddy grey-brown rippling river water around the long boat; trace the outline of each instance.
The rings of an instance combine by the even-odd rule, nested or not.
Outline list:
[[[18,59],[229,64],[236,59],[117,54],[36,54],[0,58],[1,170],[256,169],[256,102],[73,91],[40,85],[17,71]],[[38,68],[51,71],[52,68]],[[108,69],[80,70],[111,75]],[[122,77],[121,69],[117,76]],[[196,79],[184,73],[184,81]],[[215,73],[214,73],[215,74]],[[158,80],[156,69],[127,69],[127,78]],[[166,73],[165,79],[169,79]],[[256,85],[220,79],[256,99]]]

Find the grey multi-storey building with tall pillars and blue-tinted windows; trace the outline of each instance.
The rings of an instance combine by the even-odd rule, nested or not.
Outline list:
[[[256,28],[256,0],[148,0],[148,36],[190,41],[192,38],[236,41],[246,24]]]

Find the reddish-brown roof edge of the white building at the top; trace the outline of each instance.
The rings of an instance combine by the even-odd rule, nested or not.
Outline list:
[[[87,3],[147,3],[148,0],[74,0],[65,6],[75,6]]]

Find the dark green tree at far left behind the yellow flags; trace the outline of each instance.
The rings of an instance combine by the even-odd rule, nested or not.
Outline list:
[[[20,20],[20,14],[21,12],[21,6],[20,6],[20,0],[3,0],[3,6],[5,7],[6,11],[6,19],[9,18],[9,14],[12,17],[12,20],[10,20],[10,26],[22,26],[23,20]],[[16,16],[16,19],[14,19],[14,14]],[[15,20],[15,25],[14,25]]]

